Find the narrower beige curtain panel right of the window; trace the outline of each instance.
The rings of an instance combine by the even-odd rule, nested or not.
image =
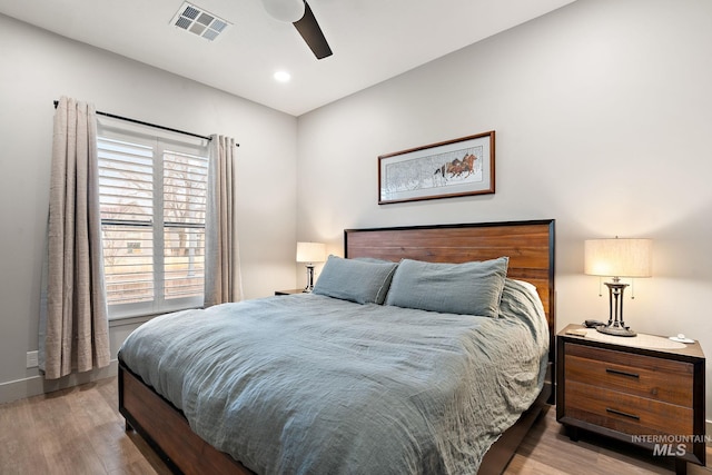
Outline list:
[[[205,306],[243,298],[235,218],[235,139],[211,136],[205,243]]]

